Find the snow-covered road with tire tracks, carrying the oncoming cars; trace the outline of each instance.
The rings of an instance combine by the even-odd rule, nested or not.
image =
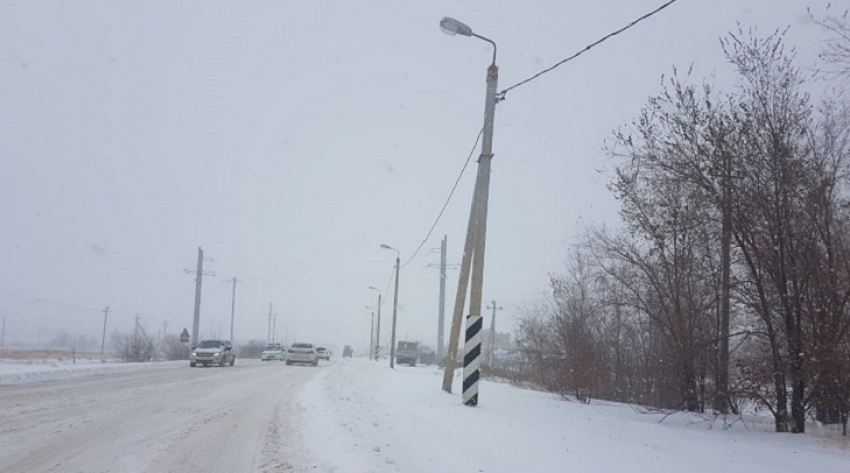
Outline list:
[[[283,471],[290,405],[325,369],[239,360],[0,388],[0,471]],[[292,447],[294,448],[294,447]]]

